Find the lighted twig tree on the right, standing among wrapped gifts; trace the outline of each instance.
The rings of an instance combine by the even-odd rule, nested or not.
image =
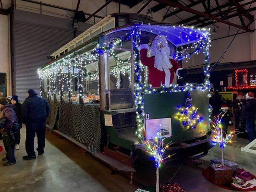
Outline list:
[[[217,118],[213,117],[214,120],[210,120],[211,125],[212,125],[211,130],[215,134],[213,143],[214,144],[219,143],[219,148],[221,150],[221,165],[222,166],[224,165],[224,148],[225,148],[226,144],[231,143],[233,136],[240,133],[240,132],[237,132],[237,129],[233,130],[229,134],[227,134],[226,132],[224,132],[222,130],[221,119],[224,116],[224,114],[221,115],[220,119],[219,119],[219,116],[220,116],[220,114],[219,114]]]

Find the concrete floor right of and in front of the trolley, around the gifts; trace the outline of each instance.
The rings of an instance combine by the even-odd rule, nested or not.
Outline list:
[[[202,175],[203,168],[209,166],[209,161],[212,158],[220,157],[221,153],[219,146],[215,146],[209,152],[209,154],[202,158],[203,164],[197,167],[189,167],[182,165],[165,168],[161,167],[159,171],[159,182],[164,184],[171,180],[172,176],[176,173],[175,177],[171,180],[171,183],[178,182],[186,192],[230,192],[230,190],[225,190],[219,188],[218,186],[210,183]],[[241,152],[240,147],[234,147],[227,145],[224,151],[224,159],[237,162],[240,164],[240,167],[245,170],[250,171],[256,175],[256,155],[246,152]],[[148,168],[150,167],[150,168]],[[145,165],[136,170],[135,180],[138,180],[140,183],[143,183],[145,186],[152,186],[155,184],[155,168],[154,165]],[[146,177],[143,176],[146,173]]]

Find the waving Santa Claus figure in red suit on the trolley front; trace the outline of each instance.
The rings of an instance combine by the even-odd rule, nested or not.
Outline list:
[[[164,84],[169,87],[173,82],[174,72],[179,78],[186,75],[176,60],[170,58],[171,49],[165,36],[156,36],[149,49],[150,57],[147,57],[149,46],[140,45],[140,61],[148,67],[149,84],[152,87],[159,87]]]

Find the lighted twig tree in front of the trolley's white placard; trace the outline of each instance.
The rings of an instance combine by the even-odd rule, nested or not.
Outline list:
[[[169,147],[171,142],[168,144],[164,144],[164,140],[168,137],[165,137],[164,139],[162,139],[160,138],[160,135],[161,134],[157,132],[155,138],[144,140],[144,143],[146,144],[145,151],[150,155],[154,156],[155,162],[156,162],[156,168],[157,168],[156,192],[159,192],[159,167],[161,166],[162,162],[165,159],[171,157],[171,155],[164,156],[164,152]]]

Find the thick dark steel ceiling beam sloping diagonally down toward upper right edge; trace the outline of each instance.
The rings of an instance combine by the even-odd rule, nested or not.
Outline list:
[[[212,19],[212,20],[214,20],[214,21],[217,21],[217,22],[220,22],[220,23],[223,23],[223,24],[228,24],[228,25],[231,25],[231,26],[234,26],[234,27],[237,27],[237,28],[244,29],[245,31],[250,31],[250,32],[252,32],[251,29],[248,29],[248,28],[246,28],[246,27],[243,27],[243,26],[240,26],[240,25],[238,25],[238,24],[234,24],[234,23],[231,23],[231,22],[228,22],[228,21],[219,19],[218,17],[209,15],[209,14],[207,14],[207,13],[205,13],[205,12],[196,11],[196,10],[194,10],[194,9],[185,7],[185,6],[183,6],[182,4],[173,2],[173,1],[171,1],[171,0],[158,0],[158,1],[160,1],[160,2],[162,2],[162,3],[165,3],[165,4],[169,4],[169,5],[171,5],[171,7],[177,7],[177,8],[179,8],[179,9],[182,9],[182,10],[185,11],[185,12],[190,12],[190,13],[195,14],[195,15],[200,15],[201,17],[206,17],[206,18]]]

